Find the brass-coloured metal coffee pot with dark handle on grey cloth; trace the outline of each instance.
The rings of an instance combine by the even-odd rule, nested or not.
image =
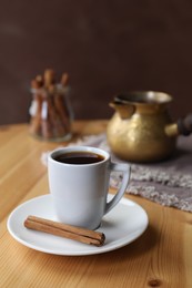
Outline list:
[[[171,101],[171,95],[154,91],[117,95],[107,128],[112,152],[131,162],[155,162],[172,154],[176,136],[192,132],[192,114],[173,123],[168,112]]]

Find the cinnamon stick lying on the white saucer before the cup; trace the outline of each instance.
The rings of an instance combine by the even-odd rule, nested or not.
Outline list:
[[[28,216],[24,220],[24,227],[94,246],[102,246],[105,240],[103,233],[48,220],[37,216]]]

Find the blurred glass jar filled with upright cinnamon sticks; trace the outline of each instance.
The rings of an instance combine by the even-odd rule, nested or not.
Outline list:
[[[69,107],[69,75],[63,73],[57,83],[55,72],[47,69],[31,81],[33,95],[30,107],[30,133],[46,138],[64,138],[71,133],[72,115]]]

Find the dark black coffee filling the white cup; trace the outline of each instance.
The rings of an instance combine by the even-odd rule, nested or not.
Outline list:
[[[54,160],[67,164],[83,165],[101,162],[104,157],[97,153],[77,151],[57,155]]]

